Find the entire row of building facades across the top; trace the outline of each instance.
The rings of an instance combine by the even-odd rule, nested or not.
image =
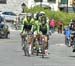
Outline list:
[[[42,4],[42,6],[51,7],[51,10],[58,11],[64,7],[72,7],[75,0],[0,0],[0,10],[20,13],[22,12],[22,3],[25,3],[28,8]]]

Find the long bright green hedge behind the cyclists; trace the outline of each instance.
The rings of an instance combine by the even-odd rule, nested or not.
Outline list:
[[[56,26],[58,21],[62,21],[64,25],[68,25],[71,19],[75,19],[74,13],[70,14],[61,11],[51,11],[50,9],[45,9],[44,7],[40,6],[35,6],[31,9],[25,8],[25,12],[31,12],[33,14],[40,11],[44,11],[50,20],[54,18],[56,21]]]

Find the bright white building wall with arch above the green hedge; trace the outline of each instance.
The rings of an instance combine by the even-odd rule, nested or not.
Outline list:
[[[40,5],[39,1],[35,2],[34,0],[28,0],[27,6],[30,8],[30,7],[34,7],[36,5]],[[58,10],[58,1],[59,0],[42,0],[42,6],[51,7],[51,10],[57,11]]]

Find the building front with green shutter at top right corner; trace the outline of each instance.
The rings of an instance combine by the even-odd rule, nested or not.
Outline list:
[[[58,8],[61,11],[65,12],[75,12],[75,5],[74,5],[75,0],[60,0]]]

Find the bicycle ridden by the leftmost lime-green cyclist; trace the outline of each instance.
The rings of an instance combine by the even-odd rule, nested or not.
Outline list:
[[[32,33],[26,32],[24,37],[24,54],[25,56],[31,56],[32,53]]]

